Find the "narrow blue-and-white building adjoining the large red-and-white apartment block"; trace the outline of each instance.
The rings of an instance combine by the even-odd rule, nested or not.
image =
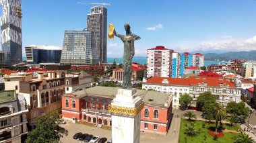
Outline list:
[[[180,56],[178,52],[172,51],[172,70],[170,77],[179,77]]]

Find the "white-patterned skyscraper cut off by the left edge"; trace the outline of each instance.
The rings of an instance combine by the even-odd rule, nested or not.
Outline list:
[[[1,42],[5,64],[22,62],[22,0],[0,0],[3,6],[1,16]]]

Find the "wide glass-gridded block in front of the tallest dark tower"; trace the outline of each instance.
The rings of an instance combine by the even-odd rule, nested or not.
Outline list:
[[[90,30],[65,31],[61,64],[74,66],[98,64],[94,32]]]

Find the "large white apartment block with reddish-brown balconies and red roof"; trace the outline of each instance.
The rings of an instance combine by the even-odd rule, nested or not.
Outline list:
[[[148,49],[147,77],[170,77],[172,50],[164,46]]]

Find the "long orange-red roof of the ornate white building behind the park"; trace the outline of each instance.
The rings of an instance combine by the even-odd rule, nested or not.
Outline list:
[[[166,79],[167,83],[162,83]],[[229,87],[234,87],[234,83],[226,81],[225,79],[219,77],[189,77],[189,78],[172,78],[172,77],[151,77],[146,83],[158,84],[158,85],[198,85],[199,83],[207,83],[210,87],[219,87],[220,84],[229,85]]]

